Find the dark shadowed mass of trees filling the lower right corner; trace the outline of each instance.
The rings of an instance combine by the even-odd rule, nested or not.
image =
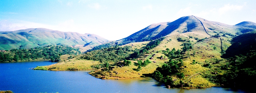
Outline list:
[[[255,68],[256,52],[248,53],[246,56],[239,55],[228,58],[228,63],[220,66],[226,73],[223,75],[205,75],[210,81],[229,85],[231,87],[253,88],[256,83]]]

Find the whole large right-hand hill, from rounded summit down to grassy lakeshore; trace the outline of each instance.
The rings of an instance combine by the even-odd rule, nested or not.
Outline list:
[[[233,78],[236,74],[255,77],[255,67],[248,65],[255,59],[254,25],[241,22],[230,26],[186,16],[173,22],[152,24],[127,38],[97,46],[71,61],[41,68],[95,68],[97,70],[89,74],[101,79],[150,76],[170,87],[232,86],[233,80],[237,80]],[[244,33],[246,29],[252,30]],[[242,56],[248,52],[251,54]],[[238,61],[239,64],[234,64]],[[248,81],[243,78],[239,77]],[[243,84],[239,82],[240,86]]]

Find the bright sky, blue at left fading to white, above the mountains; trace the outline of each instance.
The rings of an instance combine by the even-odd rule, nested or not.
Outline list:
[[[256,0],[0,0],[0,31],[47,28],[120,40],[189,15],[228,25],[256,22]]]

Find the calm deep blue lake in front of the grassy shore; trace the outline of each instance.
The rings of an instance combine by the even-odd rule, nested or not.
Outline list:
[[[49,61],[0,63],[0,90],[14,93],[245,93],[242,90],[211,87],[205,89],[167,89],[150,77],[102,80],[84,71],[32,70],[55,64]]]

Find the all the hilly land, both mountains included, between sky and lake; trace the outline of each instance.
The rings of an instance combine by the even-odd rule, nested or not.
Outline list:
[[[30,30],[35,32],[32,34]],[[71,32],[50,30],[47,35],[51,37],[46,37],[49,40],[54,37],[54,43],[48,40],[43,42],[40,31],[31,28],[1,32],[1,39],[5,42],[1,42],[0,48],[10,51],[1,52],[0,55],[9,53],[10,57],[6,60],[1,56],[0,61],[40,60],[31,56],[23,59],[18,56],[18,51],[21,54],[22,51],[30,51],[31,55],[42,54],[41,59],[58,62],[37,66],[35,70],[95,69],[89,74],[96,78],[149,76],[167,87],[178,88],[208,88],[216,85],[251,88],[253,86],[244,85],[256,82],[256,23],[250,21],[227,25],[191,15],[173,22],[152,24],[117,41],[108,41],[97,35],[74,35]],[[57,32],[62,34],[55,35]],[[37,38],[38,42],[29,40],[31,38]],[[20,45],[23,39],[26,43]],[[64,51],[67,49],[72,52]],[[44,50],[49,52],[43,53]]]

